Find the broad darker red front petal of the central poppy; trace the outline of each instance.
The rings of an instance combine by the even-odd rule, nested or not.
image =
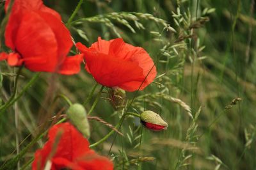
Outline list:
[[[100,54],[99,52],[85,52],[86,65],[95,81],[108,87],[115,87],[129,81],[143,81],[143,70],[132,63]]]

